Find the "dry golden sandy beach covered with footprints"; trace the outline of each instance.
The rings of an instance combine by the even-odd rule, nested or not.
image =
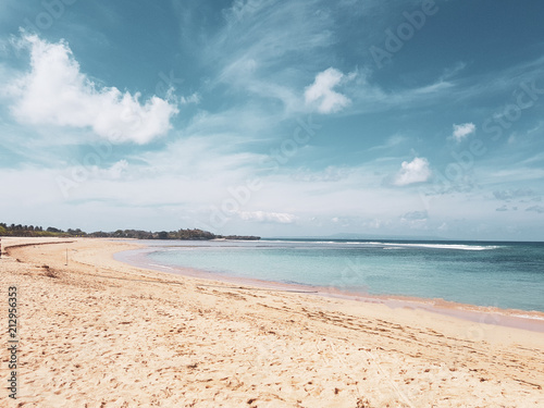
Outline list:
[[[2,238],[2,407],[544,406],[542,332],[113,259],[137,245]]]

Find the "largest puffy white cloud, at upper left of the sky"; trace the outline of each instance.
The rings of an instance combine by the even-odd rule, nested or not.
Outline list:
[[[27,35],[30,72],[11,84],[12,113],[22,123],[91,128],[111,141],[146,144],[164,135],[177,107],[157,96],[144,103],[140,94],[95,84],[83,74],[64,41],[50,44]]]

